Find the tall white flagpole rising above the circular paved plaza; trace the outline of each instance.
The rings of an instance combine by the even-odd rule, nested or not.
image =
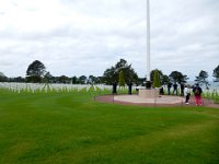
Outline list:
[[[147,81],[150,81],[150,3],[147,0]]]

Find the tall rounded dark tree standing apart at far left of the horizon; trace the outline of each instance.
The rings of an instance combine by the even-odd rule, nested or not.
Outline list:
[[[27,82],[42,82],[42,79],[46,72],[46,67],[43,62],[35,60],[33,61],[26,70]]]

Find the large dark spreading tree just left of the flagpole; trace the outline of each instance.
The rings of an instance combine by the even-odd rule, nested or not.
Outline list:
[[[106,69],[103,73],[103,79],[106,84],[118,83],[119,72],[123,71],[125,83],[138,82],[138,75],[131,68],[131,65],[125,59],[120,59],[114,67]]]

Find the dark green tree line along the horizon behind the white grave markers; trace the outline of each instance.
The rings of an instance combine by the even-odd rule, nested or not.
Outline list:
[[[214,82],[219,82],[219,65],[212,70]],[[201,70],[195,82],[209,86],[208,72]],[[169,75],[163,74],[161,70],[152,70],[150,79],[153,86],[159,86],[168,83],[186,83],[188,77],[178,71],[172,71]],[[135,69],[125,59],[120,59],[115,66],[107,68],[102,77],[81,75],[81,77],[54,77],[39,60],[33,61],[26,70],[26,77],[8,78],[0,72],[0,82],[32,82],[32,83],[72,83],[72,84],[114,84],[118,83],[120,86],[132,83],[136,85],[143,85],[146,78],[139,78]]]

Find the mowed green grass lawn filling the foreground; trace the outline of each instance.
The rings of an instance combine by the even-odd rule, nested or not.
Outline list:
[[[219,109],[0,90],[0,164],[218,164]]]

